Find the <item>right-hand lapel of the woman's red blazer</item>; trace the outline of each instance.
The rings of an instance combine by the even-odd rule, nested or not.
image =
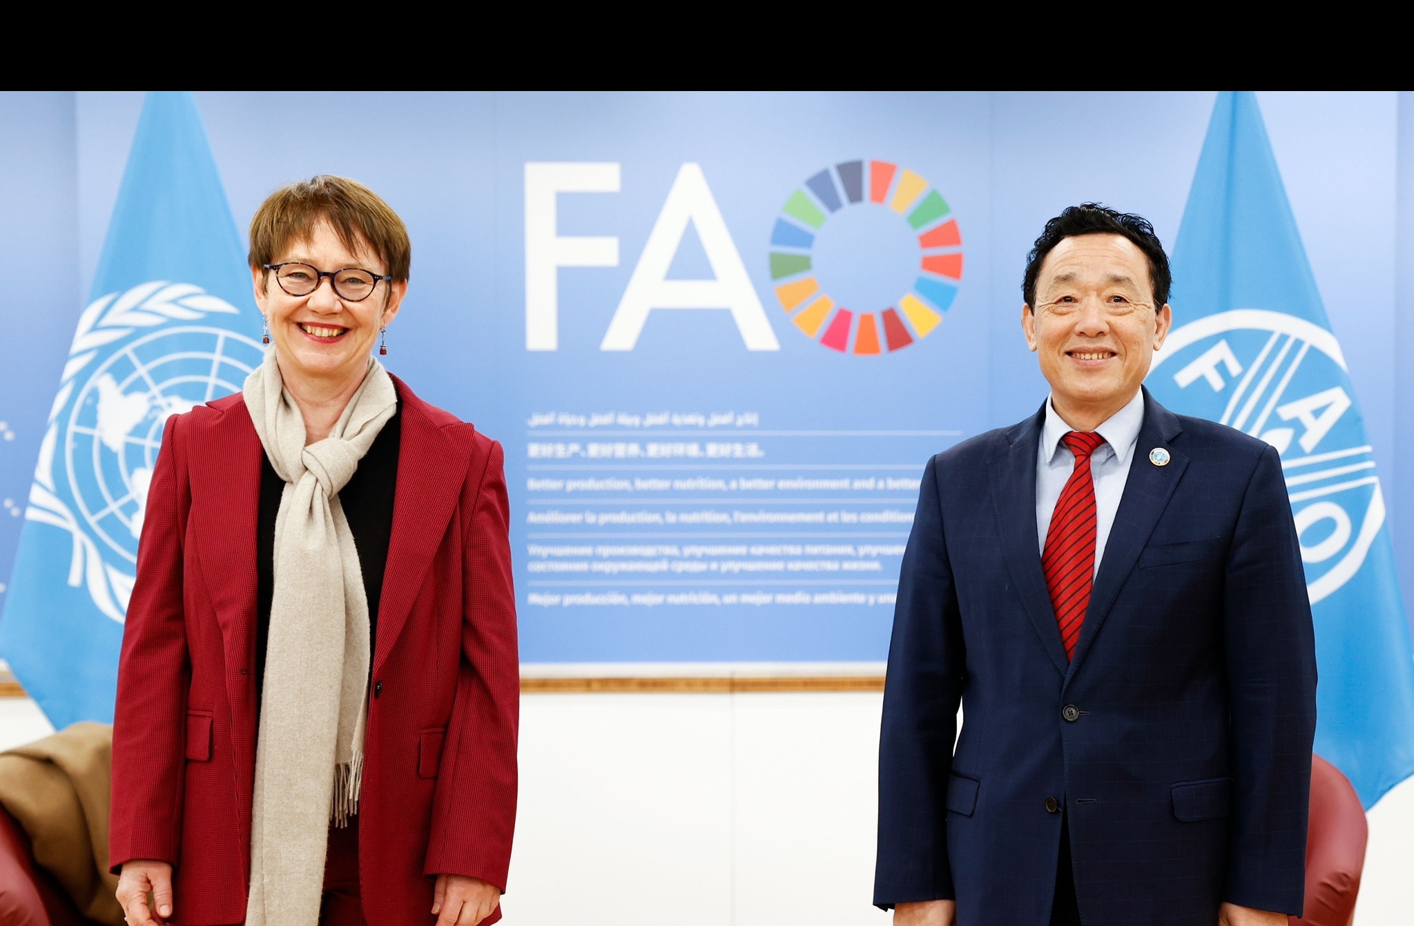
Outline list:
[[[407,623],[423,577],[447,534],[471,459],[471,441],[445,433],[444,424],[433,418],[433,407],[403,380],[393,376],[393,385],[403,404],[403,435],[397,447],[393,533],[378,606],[375,677]]]

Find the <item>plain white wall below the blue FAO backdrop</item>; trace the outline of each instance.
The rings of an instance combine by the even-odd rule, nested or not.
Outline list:
[[[508,926],[884,926],[878,694],[527,694]],[[49,732],[0,698],[0,749]],[[1410,922],[1414,779],[1370,811],[1356,926]]]

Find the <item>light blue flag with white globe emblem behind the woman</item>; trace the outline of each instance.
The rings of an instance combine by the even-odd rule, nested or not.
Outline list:
[[[58,727],[112,722],[167,417],[260,363],[240,236],[191,93],[151,93],[79,315],[0,615],[0,656]]]

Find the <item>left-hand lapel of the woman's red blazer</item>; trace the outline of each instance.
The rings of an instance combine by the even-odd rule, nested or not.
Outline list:
[[[221,403],[205,434],[188,437],[191,539],[216,609],[228,666],[247,666],[255,647],[256,524],[264,450],[245,402]],[[222,407],[223,406],[223,407]],[[226,674],[228,686],[233,676]],[[242,703],[228,690],[230,704]]]

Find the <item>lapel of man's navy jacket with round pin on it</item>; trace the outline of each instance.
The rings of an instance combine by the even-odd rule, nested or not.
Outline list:
[[[1172,441],[1182,430],[1178,416],[1155,402],[1145,389],[1144,424],[1140,427],[1134,457],[1130,459],[1130,475],[1124,482],[1120,508],[1114,513],[1114,526],[1110,527],[1110,537],[1104,541],[1104,558],[1094,577],[1085,623],[1080,625],[1070,676],[1090,650],[1094,635],[1100,632],[1110,608],[1114,606],[1114,599],[1134,571],[1144,544],[1148,543],[1154,526],[1158,524],[1174,489],[1178,488],[1178,481],[1188,468],[1188,457],[1172,447]],[[1168,451],[1168,464],[1157,467],[1150,461],[1150,452],[1155,448]]]

